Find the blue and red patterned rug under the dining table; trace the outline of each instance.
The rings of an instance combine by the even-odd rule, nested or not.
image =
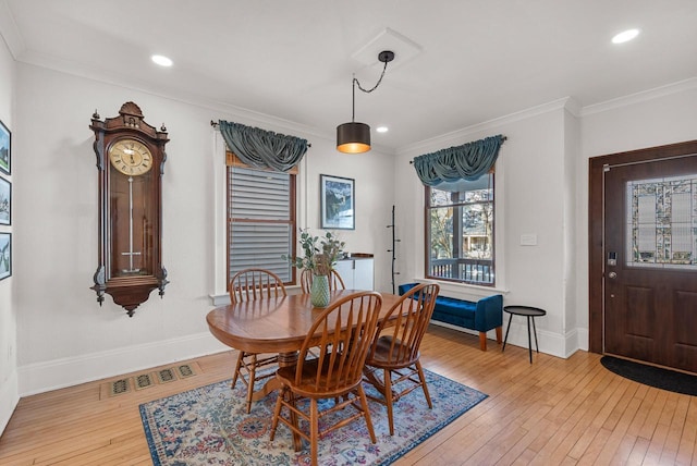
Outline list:
[[[377,443],[358,420],[320,439],[322,465],[388,465],[452,422],[487,397],[486,394],[425,370],[433,409],[420,390],[394,405],[394,437],[390,437],[387,408],[370,403]],[[375,389],[365,384],[366,391]],[[245,385],[230,389],[230,380],[140,405],[140,418],[156,466],[305,465],[309,444],[293,450],[293,439],[280,425],[269,441],[276,403],[272,393],[246,413]],[[326,401],[333,403],[333,401]],[[331,420],[328,420],[331,421]],[[321,428],[321,426],[320,426]]]

